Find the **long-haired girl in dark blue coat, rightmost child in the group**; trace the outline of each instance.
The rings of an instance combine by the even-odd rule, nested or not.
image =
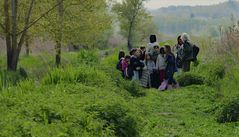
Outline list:
[[[166,78],[168,79],[168,89],[173,89],[173,87],[177,86],[176,80],[173,78],[174,73],[177,71],[175,56],[171,51],[171,47],[169,45],[165,45],[166,52]]]

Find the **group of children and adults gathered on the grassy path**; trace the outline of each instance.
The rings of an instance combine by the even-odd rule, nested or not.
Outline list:
[[[178,36],[177,44],[160,47],[156,35],[151,35],[147,47],[133,48],[129,55],[119,52],[117,69],[125,79],[137,80],[145,88],[170,90],[178,88],[175,72],[190,71],[190,64],[196,60],[199,48],[190,42],[189,35]]]

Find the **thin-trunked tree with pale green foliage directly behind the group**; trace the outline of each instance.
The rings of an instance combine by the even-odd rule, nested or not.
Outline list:
[[[121,34],[128,40],[128,49],[145,42],[145,38],[157,29],[144,8],[145,0],[123,0],[113,6],[120,23]]]

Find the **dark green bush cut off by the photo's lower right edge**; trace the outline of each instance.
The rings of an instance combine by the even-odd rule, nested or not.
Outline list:
[[[219,123],[239,121],[239,97],[223,107],[217,118],[217,121]]]

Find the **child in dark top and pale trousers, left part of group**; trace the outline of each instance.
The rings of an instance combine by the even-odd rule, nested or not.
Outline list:
[[[133,80],[139,80],[139,71],[144,67],[144,63],[139,59],[141,56],[139,49],[132,49],[130,53],[132,54],[130,65],[134,72]]]

